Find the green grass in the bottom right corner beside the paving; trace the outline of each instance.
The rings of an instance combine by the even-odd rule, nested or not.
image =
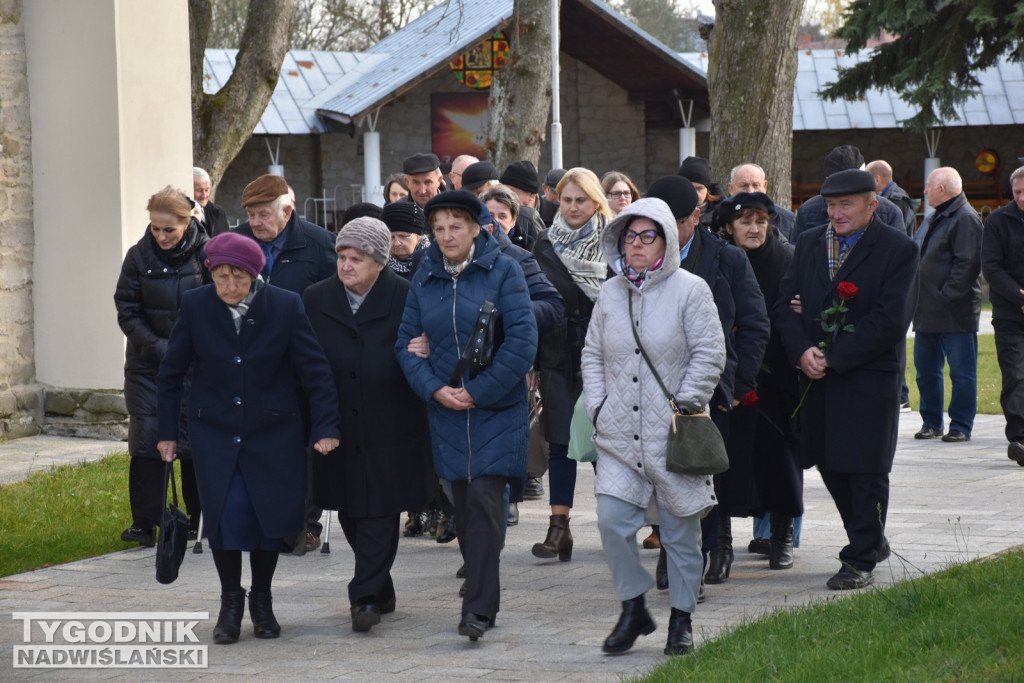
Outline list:
[[[1020,681],[1022,585],[1024,554],[1009,552],[779,611],[637,680]]]

